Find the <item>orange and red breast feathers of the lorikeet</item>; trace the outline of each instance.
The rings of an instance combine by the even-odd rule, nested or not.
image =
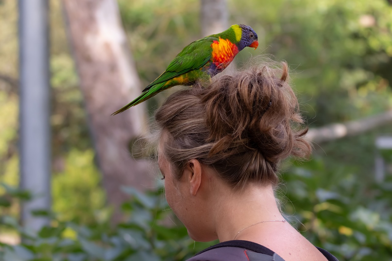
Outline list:
[[[223,70],[232,62],[234,57],[238,54],[237,45],[229,40],[219,38],[211,44],[212,48],[212,63],[217,69]]]

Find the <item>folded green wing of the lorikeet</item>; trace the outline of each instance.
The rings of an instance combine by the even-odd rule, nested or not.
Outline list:
[[[200,40],[194,41],[185,46],[185,48],[177,54],[176,58],[171,61],[169,66],[154,82],[150,83],[144,90],[148,91],[152,86],[166,82],[181,74],[200,69],[211,60],[211,44],[218,38],[207,36]]]

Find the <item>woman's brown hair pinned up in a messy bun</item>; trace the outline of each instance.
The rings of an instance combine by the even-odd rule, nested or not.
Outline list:
[[[276,185],[281,160],[311,152],[287,82],[287,63],[281,69],[256,66],[167,98],[155,120],[160,136],[167,135],[163,154],[178,178],[189,160],[198,159],[232,187],[248,181]]]

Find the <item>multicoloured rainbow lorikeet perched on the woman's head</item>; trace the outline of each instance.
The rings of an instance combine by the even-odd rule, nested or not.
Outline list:
[[[176,85],[191,85],[199,79],[212,77],[223,71],[245,47],[258,47],[257,34],[250,26],[232,25],[226,31],[212,34],[185,46],[156,80],[112,115],[139,104],[158,92]]]

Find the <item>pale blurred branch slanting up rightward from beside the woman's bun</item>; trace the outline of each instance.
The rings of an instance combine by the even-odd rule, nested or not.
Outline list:
[[[392,123],[392,111],[387,111],[356,121],[309,129],[307,138],[315,143],[333,141],[346,136],[358,135],[390,123]]]

